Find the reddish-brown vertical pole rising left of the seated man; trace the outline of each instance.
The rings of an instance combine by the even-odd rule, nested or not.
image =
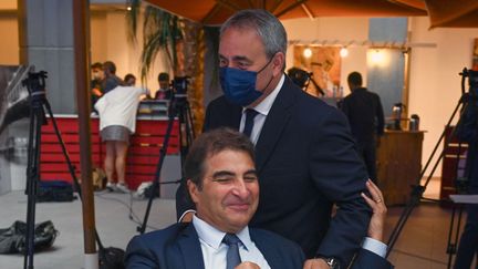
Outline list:
[[[73,0],[73,37],[76,104],[80,127],[85,268],[97,269],[90,131],[90,1]]]

